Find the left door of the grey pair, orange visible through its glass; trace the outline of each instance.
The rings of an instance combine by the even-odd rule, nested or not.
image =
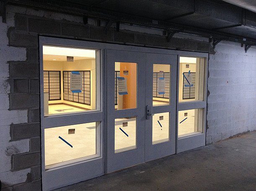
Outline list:
[[[107,173],[145,161],[146,54],[106,50]]]

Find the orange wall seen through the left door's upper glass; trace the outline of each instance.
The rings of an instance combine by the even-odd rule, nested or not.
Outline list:
[[[128,70],[128,75],[124,75],[124,70]],[[120,77],[127,78],[128,94],[123,97],[123,109],[136,108],[137,63],[120,63]]]

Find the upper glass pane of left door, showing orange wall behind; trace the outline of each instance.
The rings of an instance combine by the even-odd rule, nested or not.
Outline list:
[[[115,110],[137,108],[137,63],[115,62]]]

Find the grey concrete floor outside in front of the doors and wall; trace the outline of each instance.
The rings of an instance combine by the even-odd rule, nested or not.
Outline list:
[[[57,191],[256,191],[256,131]]]

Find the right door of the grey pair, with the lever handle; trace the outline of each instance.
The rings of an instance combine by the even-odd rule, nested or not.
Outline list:
[[[147,53],[145,161],[176,153],[177,55]]]

